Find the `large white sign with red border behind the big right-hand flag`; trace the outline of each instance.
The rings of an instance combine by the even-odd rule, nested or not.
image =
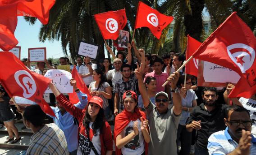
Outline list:
[[[240,76],[235,71],[211,62],[199,60],[197,86],[226,87],[236,84]]]

